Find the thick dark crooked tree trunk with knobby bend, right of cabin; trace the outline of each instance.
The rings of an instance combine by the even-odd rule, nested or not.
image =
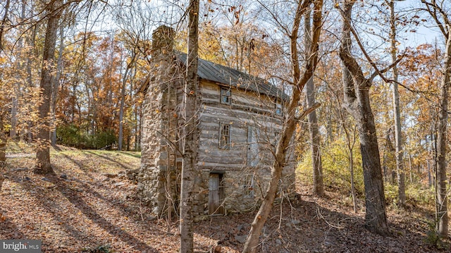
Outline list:
[[[359,64],[350,54],[353,5],[354,1],[347,0],[343,4],[342,9],[343,24],[340,58],[343,65],[345,108],[356,120],[359,130],[366,197],[366,228],[379,235],[388,235],[381,159],[376,136],[376,125],[369,99],[369,88],[372,80],[364,77]]]

